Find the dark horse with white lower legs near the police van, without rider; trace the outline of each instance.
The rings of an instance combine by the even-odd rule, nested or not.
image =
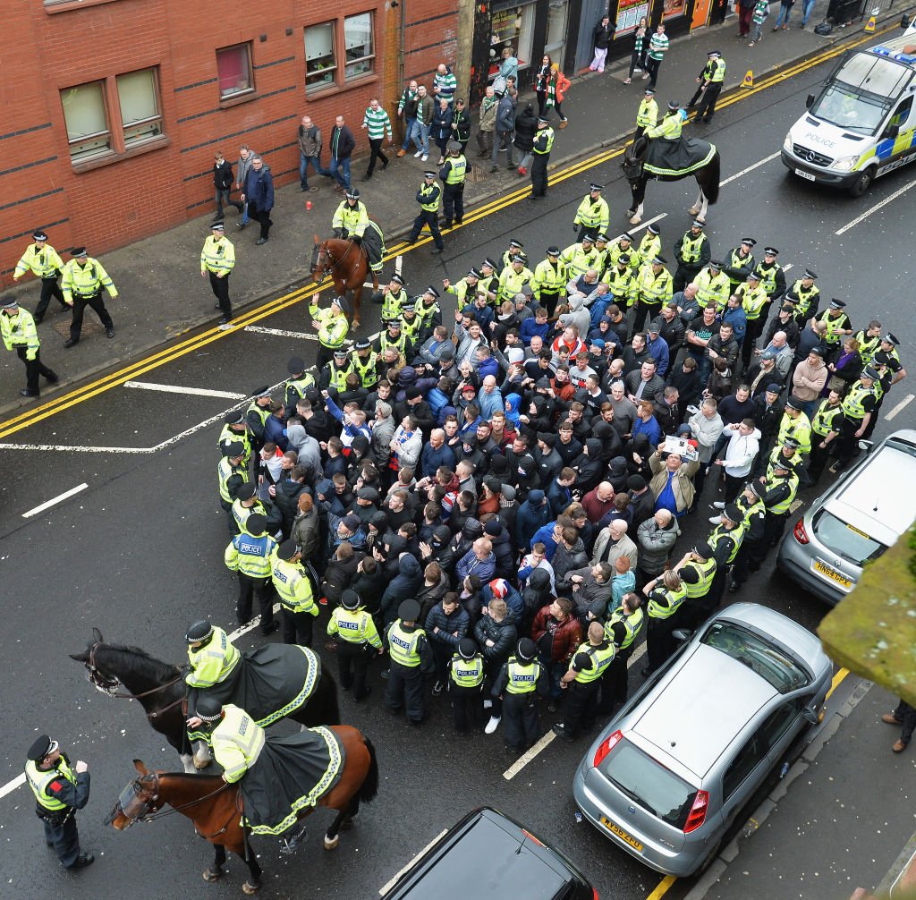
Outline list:
[[[627,210],[630,225],[638,225],[642,221],[649,179],[681,181],[691,175],[696,179],[700,193],[689,213],[705,223],[707,207],[719,199],[720,163],[715,145],[697,137],[683,137],[680,142],[650,141],[645,135],[638,137],[625,150],[622,163],[624,176],[633,194],[632,208]]]

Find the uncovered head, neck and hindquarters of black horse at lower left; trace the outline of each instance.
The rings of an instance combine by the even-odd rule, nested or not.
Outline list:
[[[290,651],[296,649],[289,646]],[[139,701],[153,730],[175,748],[185,771],[193,771],[187,741],[187,712],[183,708],[186,697],[184,670],[154,659],[139,647],[105,643],[97,628],[93,628],[93,641],[87,649],[83,653],[71,653],[71,659],[85,665],[87,678],[96,690],[108,697]],[[124,686],[126,693],[118,691],[120,686]],[[337,684],[326,668],[322,666],[321,675],[306,702],[289,712],[287,718],[307,728],[340,724]],[[205,768],[209,762],[209,752],[199,752],[194,765]]]

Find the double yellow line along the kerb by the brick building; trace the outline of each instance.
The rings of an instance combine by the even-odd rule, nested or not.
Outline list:
[[[845,53],[847,49],[852,49],[860,46],[861,44],[877,41],[882,34],[887,34],[889,31],[896,29],[896,26],[888,27],[882,31],[876,32],[875,34],[864,35],[861,38],[856,38],[854,41],[837,44],[830,49],[824,50],[822,53],[818,53],[815,56],[812,56],[812,58],[809,60],[804,60],[789,66],[786,69],[774,72],[771,75],[767,75],[752,88],[738,88],[736,91],[727,94],[719,102],[718,108],[721,109],[725,106],[740,103],[741,101],[746,100],[748,97],[751,97],[760,91],[765,91],[770,87],[773,87],[777,84],[780,84],[781,82],[793,78],[796,75],[801,74],[803,71],[807,71],[812,69],[814,66],[820,65],[826,60],[834,59],[834,57],[839,56],[841,53]],[[564,167],[562,170],[551,172],[551,182],[556,183],[558,181],[566,181],[570,178],[576,178],[582,175],[583,172],[594,169],[596,166],[600,166],[610,159],[616,159],[623,154],[625,149],[626,145],[624,147],[616,147],[603,150],[585,159],[574,162],[571,165]],[[518,201],[524,199],[529,194],[530,189],[527,182],[522,183],[524,186],[519,185],[519,187],[514,191],[510,191],[507,194],[498,197],[496,200],[485,203],[483,206],[479,206],[471,211],[465,216],[464,225],[471,225],[474,222],[478,222],[481,219],[484,219],[487,215],[499,212],[500,210],[504,210],[508,206],[511,206],[514,203],[518,203]],[[463,227],[463,225],[461,227]],[[427,241],[424,240],[417,246],[421,246],[426,242]],[[398,255],[398,253],[406,252],[407,249],[408,246],[406,244],[399,242],[387,253],[386,259],[394,258]],[[77,388],[76,390],[71,390],[69,393],[66,393],[59,398],[51,400],[47,403],[40,403],[36,407],[29,408],[27,411],[21,412],[18,415],[13,416],[11,419],[6,419],[4,422],[0,423],[0,438],[5,438],[10,434],[16,434],[17,432],[23,431],[29,427],[29,425],[34,425],[44,419],[48,419],[52,415],[56,415],[59,412],[71,409],[71,407],[76,406],[79,403],[90,400],[93,397],[97,397],[99,394],[104,393],[106,390],[120,387],[125,383],[125,381],[136,379],[137,377],[161,366],[165,366],[168,363],[179,359],[180,357],[187,356],[189,353],[193,353],[195,350],[199,350],[204,346],[213,344],[213,341],[220,340],[227,335],[232,335],[240,328],[245,328],[245,325],[254,324],[259,322],[261,319],[267,318],[267,316],[288,309],[295,303],[301,302],[306,297],[310,296],[314,291],[322,291],[326,289],[329,284],[330,281],[328,280],[324,280],[321,284],[318,285],[314,284],[313,282],[306,284],[296,291],[291,291],[288,294],[284,294],[282,297],[278,297],[276,300],[262,303],[260,306],[256,307],[256,309],[253,309],[248,313],[242,313],[233,320],[233,325],[230,328],[209,328],[198,335],[193,335],[192,337],[180,341],[178,344],[168,346],[162,350],[159,350],[157,353],[153,353],[150,356],[144,357],[143,359],[138,360],[136,363],[132,363],[130,366],[120,368],[114,372],[109,373],[108,375],[103,376],[100,379],[96,379],[90,382],[89,384],[82,385],[82,387]]]

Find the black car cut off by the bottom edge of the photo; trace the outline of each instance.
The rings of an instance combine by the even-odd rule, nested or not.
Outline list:
[[[560,851],[489,807],[468,813],[396,878],[384,900],[598,900]]]

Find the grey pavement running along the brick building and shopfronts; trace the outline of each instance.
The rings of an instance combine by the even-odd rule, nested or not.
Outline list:
[[[772,9],[768,26],[775,21],[777,5]],[[899,21],[902,11],[898,9],[879,20],[878,31],[888,23]],[[703,69],[709,49],[719,49],[725,57],[728,66],[725,97],[731,91],[740,90],[747,71],[753,71],[755,79],[759,80],[768,72],[784,70],[791,63],[810,58],[834,43],[862,37],[862,28],[858,25],[838,28],[827,38],[815,35],[812,26],[819,21],[815,13],[806,29],[799,27],[799,16],[795,16],[787,31],[774,33],[767,27],[765,38],[750,48],[747,40],[736,39],[736,21],[736,16],[728,16],[720,26],[701,28],[671,41],[658,82],[661,108],[669,99],[682,103],[690,99],[695,88],[694,79]],[[573,77],[573,87],[564,101],[569,125],[557,132],[551,169],[582,159],[600,148],[619,144],[629,136],[642,88],[648,82],[637,75],[632,84],[625,85],[627,63],[628,60],[617,62],[600,75],[586,70]],[[532,97],[525,96],[522,101],[528,99]],[[703,128],[697,127],[698,130]],[[365,141],[361,135],[357,143],[363,151]],[[518,190],[526,181],[514,169],[491,173],[489,159],[478,159],[474,148],[472,138],[469,159],[474,169],[465,192],[465,205],[471,210],[504,192]],[[372,181],[364,183],[359,181],[365,172],[364,163],[365,159],[354,159],[354,185],[360,188],[369,214],[383,225],[390,249],[397,244],[398,238],[409,232],[417,212],[415,193],[422,181],[421,172],[428,164],[414,159],[411,153],[401,159],[392,159],[385,172],[376,170]],[[587,176],[583,175],[583,195],[587,191],[587,181]],[[333,191],[331,180],[313,176],[311,183],[317,184],[320,190],[302,193],[298,181],[277,190],[273,211],[276,225],[271,229],[270,240],[261,247],[255,244],[256,226],[240,232],[236,228],[237,214],[232,207],[228,209],[226,234],[234,241],[237,258],[231,284],[236,313],[311,282],[313,240],[315,236],[330,235],[333,211],[341,200],[341,195]],[[306,208],[306,202],[311,202],[311,209]],[[69,336],[70,313],[51,301],[49,313],[39,326],[41,357],[59,374],[60,383],[45,388],[42,402],[53,400],[71,390],[74,384],[123,365],[126,360],[166,345],[193,329],[212,328],[216,324],[219,313],[213,309],[209,281],[201,278],[199,267],[202,243],[210,233],[208,226],[212,219],[213,214],[208,213],[136,244],[99,255],[119,291],[116,300],[106,298],[114,319],[116,334],[113,340],[105,339],[97,317],[88,310],[79,345],[65,349],[63,342]],[[449,234],[445,233],[446,244]],[[53,244],[53,234],[50,240]],[[28,276],[27,281],[10,293],[27,309],[34,310],[38,302],[38,283]],[[308,329],[304,314],[300,327]],[[0,354],[0,398],[3,398],[0,414],[37,403],[17,396],[24,383],[22,364],[13,354]]]

